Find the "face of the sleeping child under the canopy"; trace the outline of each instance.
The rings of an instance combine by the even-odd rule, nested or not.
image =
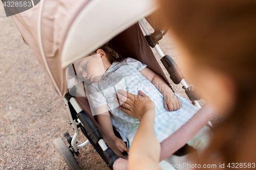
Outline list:
[[[76,74],[87,83],[98,82],[105,74],[105,69],[100,54],[85,57],[74,63]]]

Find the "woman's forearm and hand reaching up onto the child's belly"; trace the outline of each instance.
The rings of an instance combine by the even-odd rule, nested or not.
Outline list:
[[[159,162],[161,146],[154,129],[155,104],[139,91],[139,95],[118,90],[117,98],[124,113],[140,119],[140,124],[129,149],[129,169],[148,169],[150,163]],[[116,99],[117,100],[117,99]],[[138,161],[139,160],[139,161]]]

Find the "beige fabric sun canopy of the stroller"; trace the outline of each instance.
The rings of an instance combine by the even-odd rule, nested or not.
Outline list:
[[[12,16],[57,93],[67,92],[65,69],[157,9],[154,0],[42,0]]]

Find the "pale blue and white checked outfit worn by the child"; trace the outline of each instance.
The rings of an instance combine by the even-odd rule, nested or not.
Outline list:
[[[127,141],[130,147],[134,135],[138,129],[140,120],[134,118],[123,111],[114,100],[114,92],[118,89],[128,91],[138,95],[138,91],[143,91],[155,103],[155,133],[159,142],[183,126],[199,108],[175,94],[182,106],[176,111],[167,111],[164,108],[164,97],[159,90],[144,76],[140,70],[146,65],[141,62],[127,58],[123,62],[114,62],[103,75],[99,82],[92,83],[88,88],[91,91],[89,102],[93,108],[108,105],[111,112],[112,124],[120,133],[122,139]]]

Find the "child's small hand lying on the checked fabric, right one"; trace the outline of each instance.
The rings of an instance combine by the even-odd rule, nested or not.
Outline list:
[[[181,108],[181,103],[179,99],[176,98],[174,93],[166,94],[164,97],[164,108],[167,111],[175,111]]]

